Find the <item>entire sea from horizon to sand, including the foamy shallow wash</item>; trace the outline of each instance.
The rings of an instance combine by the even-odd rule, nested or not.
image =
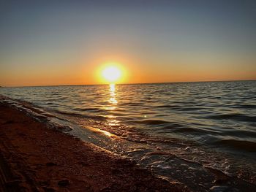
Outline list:
[[[0,94],[194,191],[236,187],[230,178],[256,185],[256,81],[13,87]]]

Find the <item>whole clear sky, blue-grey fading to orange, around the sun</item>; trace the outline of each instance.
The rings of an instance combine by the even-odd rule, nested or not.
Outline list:
[[[256,80],[256,1],[0,0],[0,85]]]

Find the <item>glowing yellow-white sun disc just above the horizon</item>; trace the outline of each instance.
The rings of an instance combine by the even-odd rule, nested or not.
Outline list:
[[[121,79],[121,69],[118,66],[106,66],[102,70],[102,77],[109,83],[115,83]]]

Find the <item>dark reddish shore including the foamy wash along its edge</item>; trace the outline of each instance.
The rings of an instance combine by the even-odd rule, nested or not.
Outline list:
[[[246,180],[241,180],[235,175],[226,174],[222,172],[222,170],[204,166],[195,161],[189,161],[187,158],[178,158],[176,155],[173,155],[171,151],[170,153],[165,153],[165,151],[161,151],[161,149],[154,150],[154,148],[150,151],[146,150],[146,153],[143,153],[146,155],[145,161],[142,158],[133,158],[128,153],[123,153],[126,151],[125,147],[121,147],[122,153],[118,153],[118,151],[116,151],[115,142],[112,140],[106,142],[105,137],[102,137],[105,134],[101,133],[101,129],[99,129],[99,133],[97,128],[94,130],[93,126],[86,126],[80,129],[72,123],[70,123],[70,125],[69,123],[59,124],[58,120],[55,121],[52,120],[52,118],[56,118],[56,115],[44,110],[42,111],[33,104],[0,95],[0,191],[152,191],[151,188],[150,190],[145,188],[145,186],[148,186],[148,184],[145,184],[145,182],[148,182],[148,179],[146,179],[146,181],[144,180],[145,175],[147,178],[154,177],[155,179],[157,175],[157,181],[154,182],[160,182],[160,184],[154,184],[154,186],[160,187],[153,188],[153,191],[170,191],[170,189],[165,190],[165,188],[161,187],[162,182],[164,182],[165,185],[170,185],[172,188],[171,191],[254,191],[255,189],[254,183],[248,183]],[[64,120],[66,118],[61,117],[60,119]],[[93,130],[90,128],[93,128]],[[97,137],[99,137],[99,140],[97,140]],[[31,138],[34,138],[34,140],[32,139],[32,141]],[[13,145],[13,142],[15,142],[15,145]],[[114,148],[111,146],[114,146]],[[20,151],[20,147],[22,151]],[[69,173],[72,172],[75,174],[73,175],[74,177],[83,181],[87,172],[89,172],[89,177],[86,177],[86,181],[83,181],[83,183],[90,183],[93,188],[72,188],[69,190],[67,186],[74,183],[66,177],[62,178],[64,182],[68,184],[64,188],[60,188],[60,185],[58,185],[59,181],[61,181],[60,179],[53,180],[51,177],[46,181],[39,180],[38,184],[38,180],[34,180],[33,176],[32,179],[30,177],[29,180],[34,180],[34,183],[39,185],[39,188],[42,190],[38,190],[38,186],[33,190],[26,188],[26,190],[21,190],[20,186],[23,188],[23,177],[16,178],[13,177],[13,175],[19,175],[16,170],[22,173],[26,173],[27,171],[20,169],[19,166],[13,167],[12,160],[13,158],[25,160],[31,160],[32,158],[32,160],[38,160],[42,158],[42,155],[38,153],[39,150],[41,151],[40,153],[43,152],[43,158],[46,158],[47,161],[43,160],[40,164],[29,161],[33,166],[32,168],[26,166],[28,161],[25,161],[25,163],[23,161],[21,163],[15,161],[14,164],[25,165],[23,166],[25,167],[24,169],[32,170],[32,172],[35,173],[42,171],[37,169],[40,167],[43,167],[41,169],[51,168],[50,171],[43,172],[46,178],[51,172],[64,173],[61,175],[69,175]],[[2,155],[4,151],[7,152],[5,156]],[[80,153],[83,153],[83,155]],[[153,161],[149,162],[148,157],[151,155],[152,157],[154,156]],[[155,155],[159,157],[156,158]],[[13,158],[10,158],[10,156]],[[102,160],[99,159],[101,157]],[[129,158],[124,159],[125,157]],[[113,163],[111,159],[114,159],[114,161],[117,160],[117,162]],[[56,163],[56,161],[61,162],[61,164]],[[95,162],[89,164],[88,161]],[[164,164],[155,164],[158,161],[164,161]],[[110,164],[110,162],[112,163]],[[89,167],[91,165],[94,166]],[[97,168],[95,168],[95,165]],[[153,165],[153,167],[151,165]],[[158,170],[158,165],[159,167],[166,167],[166,169],[161,168]],[[95,180],[94,178],[99,177],[98,172],[102,172],[101,166],[104,169],[102,173],[102,177],[104,176],[104,178],[101,183],[108,183],[108,181],[110,181],[118,183],[118,185],[113,185],[113,187],[111,184],[110,187],[107,188],[95,188],[95,186],[99,184],[97,182],[91,183],[90,180]],[[109,168],[110,170],[105,170]],[[67,172],[63,172],[64,169],[67,169]],[[94,172],[94,170],[96,171]],[[144,175],[140,172],[146,173],[144,173]],[[29,173],[29,175],[34,174]],[[26,177],[26,174],[24,177]],[[127,181],[123,181],[127,177],[129,178],[128,183]],[[33,183],[28,185],[35,186]],[[144,187],[138,190],[137,186],[140,185]],[[127,188],[127,186],[132,186],[132,189]],[[12,190],[12,188],[15,188],[15,190]]]

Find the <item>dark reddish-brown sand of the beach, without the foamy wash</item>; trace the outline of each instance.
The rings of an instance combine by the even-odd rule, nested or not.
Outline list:
[[[188,191],[0,102],[0,191]]]

